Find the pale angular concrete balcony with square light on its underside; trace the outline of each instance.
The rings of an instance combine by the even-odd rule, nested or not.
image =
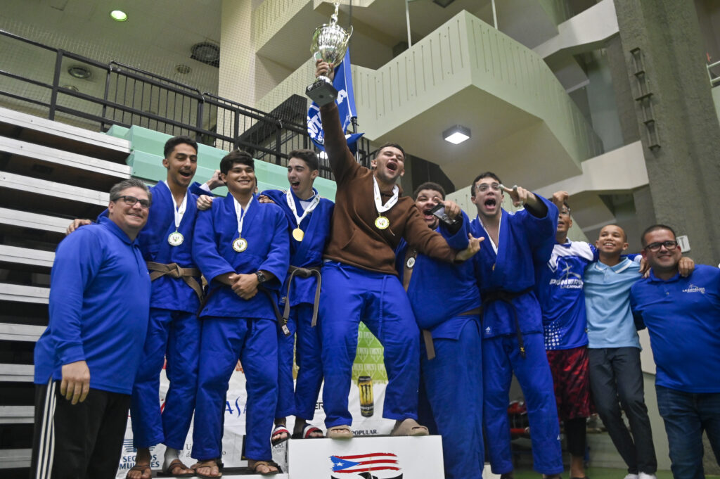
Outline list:
[[[276,91],[302,91],[309,70],[301,66]],[[456,187],[485,170],[541,187],[581,174],[582,161],[603,153],[542,58],[467,12],[377,70],[355,66],[353,79],[359,131],[440,165]],[[276,91],[264,107],[282,97]],[[472,138],[451,145],[441,134],[456,124]]]

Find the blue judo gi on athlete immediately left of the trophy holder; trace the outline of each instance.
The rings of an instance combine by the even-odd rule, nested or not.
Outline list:
[[[317,190],[315,194],[318,194]],[[282,208],[287,216],[289,232],[297,228],[297,220],[287,205],[285,192],[269,189],[262,192]],[[292,192],[295,208],[302,216],[303,209],[300,199]],[[330,217],[333,215],[333,202],[325,198],[300,222],[300,229],[305,233],[302,241],[290,237],[290,264],[293,267],[320,267],[323,263],[323,250],[330,234]],[[288,233],[289,234],[289,233]],[[279,331],[278,336],[278,398],[276,418],[297,416],[308,421],[315,415],[320,386],[323,384],[323,362],[321,358],[322,341],[320,327],[312,327],[312,311],[315,303],[315,289],[318,279],[315,276],[303,278],[295,276],[287,297],[288,278],[282,285],[280,305],[284,307],[290,302],[290,315],[287,327],[290,336]],[[297,333],[297,385],[293,388],[292,362]],[[294,393],[293,393],[294,389]]]

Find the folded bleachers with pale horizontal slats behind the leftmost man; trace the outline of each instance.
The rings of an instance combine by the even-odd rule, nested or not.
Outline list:
[[[32,350],[50,269],[72,218],[94,218],[130,178],[130,141],[0,108],[0,469],[22,475],[32,440]]]

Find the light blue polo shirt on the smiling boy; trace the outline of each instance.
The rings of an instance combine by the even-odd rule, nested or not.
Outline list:
[[[630,287],[641,277],[639,270],[629,258],[612,267],[596,261],[585,269],[589,348],[640,349],[630,310]]]

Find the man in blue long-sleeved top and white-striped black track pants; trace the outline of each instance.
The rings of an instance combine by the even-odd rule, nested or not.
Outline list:
[[[32,478],[115,477],[148,329],[150,276],[137,237],[151,199],[138,179],[114,185],[107,218],[55,253],[50,322],[35,345]]]

